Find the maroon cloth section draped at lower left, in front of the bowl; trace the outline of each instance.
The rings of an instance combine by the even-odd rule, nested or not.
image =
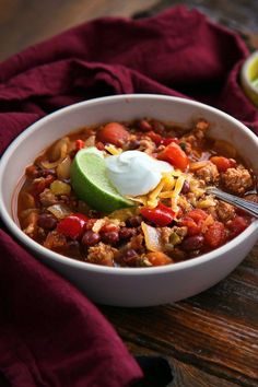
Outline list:
[[[0,231],[0,371],[12,386],[129,386],[141,370],[68,281]]]

